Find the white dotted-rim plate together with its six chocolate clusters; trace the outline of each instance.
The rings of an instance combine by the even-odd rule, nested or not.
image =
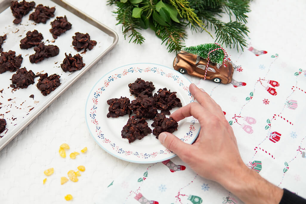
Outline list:
[[[193,117],[175,121],[171,113],[195,98],[191,82],[175,70],[136,63],[112,70],[92,88],[86,122],[95,141],[108,153],[129,162],[155,163],[176,156],[158,140],[173,133],[192,144],[200,125]]]

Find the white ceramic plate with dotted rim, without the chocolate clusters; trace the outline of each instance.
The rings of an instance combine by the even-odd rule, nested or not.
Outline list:
[[[194,97],[189,92],[191,83],[181,73],[169,67],[152,64],[136,63],[121,66],[103,76],[92,88],[85,108],[85,117],[88,129],[95,141],[111,155],[133,163],[155,163],[176,156],[166,149],[153,134],[145,136],[141,140],[129,143],[128,139],[121,137],[122,127],[126,125],[129,116],[107,118],[108,107],[106,101],[110,98],[128,97],[135,99],[129,92],[128,84],[137,78],[152,81],[156,93],[159,88],[168,88],[177,92],[185,106],[194,102]],[[173,113],[175,109],[170,112]],[[147,120],[149,127],[153,123]],[[178,122],[178,130],[175,134],[182,141],[192,144],[200,131],[200,125],[193,117],[185,118]]]

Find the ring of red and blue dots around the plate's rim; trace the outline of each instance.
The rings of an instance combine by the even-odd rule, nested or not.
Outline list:
[[[187,95],[189,96],[190,102],[194,102],[195,98],[191,95],[188,85],[184,84],[184,81],[182,81],[178,75],[175,75],[173,73],[165,73],[164,70],[157,68],[157,67],[146,67],[145,69],[140,69],[139,67],[129,67],[128,69],[125,69],[122,71],[122,73],[113,74],[110,76],[107,76],[106,80],[103,81],[104,86],[101,88],[98,88],[94,91],[93,97],[91,98],[91,101],[93,102],[93,106],[90,109],[89,117],[91,118],[91,123],[93,123],[96,127],[95,134],[99,138],[99,142],[108,143],[111,148],[116,151],[119,154],[130,156],[130,157],[138,157],[143,159],[148,158],[155,158],[157,155],[167,155],[172,153],[168,149],[162,149],[157,152],[133,152],[130,150],[125,150],[122,147],[116,145],[114,142],[112,142],[109,138],[107,138],[106,135],[103,134],[103,131],[101,130],[101,126],[99,125],[99,121],[96,120],[96,114],[97,111],[99,111],[97,105],[99,98],[102,98],[102,100],[105,100],[103,98],[103,92],[109,87],[110,83],[116,83],[118,79],[120,79],[123,76],[129,75],[129,73],[157,73],[161,76],[166,76],[170,80],[173,80],[174,83],[177,83],[178,86],[183,87],[183,90],[187,92]],[[182,138],[182,141],[188,141],[193,135],[196,128],[194,127],[194,122],[196,120],[192,120],[192,124],[190,124],[189,131],[185,133],[184,137]]]

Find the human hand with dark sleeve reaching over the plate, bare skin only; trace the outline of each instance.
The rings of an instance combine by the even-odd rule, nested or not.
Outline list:
[[[189,90],[197,102],[181,107],[170,117],[175,121],[189,116],[198,119],[201,126],[198,138],[190,145],[171,133],[163,132],[159,134],[159,141],[201,177],[220,183],[244,202],[278,203],[282,189],[244,164],[233,129],[221,107],[195,84],[191,84]]]

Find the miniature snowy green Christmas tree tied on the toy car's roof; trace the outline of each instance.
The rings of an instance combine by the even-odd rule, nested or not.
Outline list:
[[[219,45],[215,43],[206,43],[197,46],[190,46],[182,48],[181,50],[184,52],[189,52],[194,55],[198,55],[204,59],[208,58],[208,53],[214,49],[220,48]],[[222,49],[215,50],[209,54],[209,60],[212,63],[222,64],[224,59],[224,52]]]

